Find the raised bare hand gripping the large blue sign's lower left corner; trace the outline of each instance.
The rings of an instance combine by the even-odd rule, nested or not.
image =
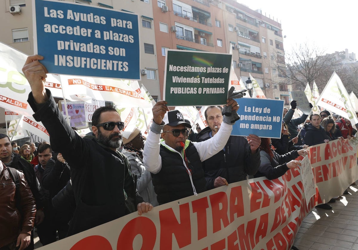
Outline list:
[[[32,55],[27,57],[23,72],[26,79],[29,81],[31,91],[34,96],[35,102],[40,104],[48,100],[45,91],[45,79],[47,69],[38,60],[42,60],[43,56]]]

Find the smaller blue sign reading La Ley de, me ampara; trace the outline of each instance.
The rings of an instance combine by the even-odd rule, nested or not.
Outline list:
[[[281,137],[283,100],[257,98],[235,100],[240,105],[240,109],[237,111],[240,120],[236,121],[231,135],[254,134],[266,138]]]

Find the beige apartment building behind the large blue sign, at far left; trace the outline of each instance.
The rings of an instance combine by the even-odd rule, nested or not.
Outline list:
[[[140,19],[140,42],[142,70],[141,81],[153,98],[160,96],[158,65],[153,21],[153,7],[150,0],[64,0],[83,5],[101,6],[109,9],[135,12]],[[10,10],[13,6],[13,10]],[[0,41],[24,52],[34,54],[32,0],[3,0],[0,4]],[[44,38],[45,39],[45,38]]]

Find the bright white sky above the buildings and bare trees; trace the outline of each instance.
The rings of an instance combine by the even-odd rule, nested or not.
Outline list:
[[[325,53],[355,53],[358,59],[358,1],[237,0],[282,24],[286,52],[308,43]]]

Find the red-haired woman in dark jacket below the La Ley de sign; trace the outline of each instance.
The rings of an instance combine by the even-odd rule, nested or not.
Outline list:
[[[305,157],[305,149],[293,150],[284,155],[275,152],[271,145],[271,138],[261,138],[260,144],[261,164],[254,177],[266,176],[267,179],[276,179],[286,173],[287,170],[301,166],[301,162],[295,159],[301,155]]]

